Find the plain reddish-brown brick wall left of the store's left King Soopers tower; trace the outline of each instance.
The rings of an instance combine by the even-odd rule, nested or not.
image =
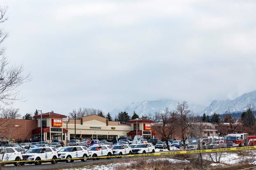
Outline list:
[[[0,118],[0,137],[22,140],[34,138],[33,129],[37,128],[37,120],[2,119]]]

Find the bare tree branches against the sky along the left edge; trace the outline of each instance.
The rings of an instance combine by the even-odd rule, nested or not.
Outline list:
[[[0,23],[7,21],[7,7],[0,7]],[[30,74],[23,76],[23,65],[9,65],[5,57],[5,48],[2,46],[3,41],[7,39],[8,33],[0,29],[0,102],[3,104],[12,104],[15,100],[23,99],[19,95],[17,87],[31,79]]]

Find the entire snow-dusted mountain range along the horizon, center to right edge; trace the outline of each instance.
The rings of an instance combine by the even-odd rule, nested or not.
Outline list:
[[[133,102],[125,108],[116,108],[112,110],[114,115],[117,115],[121,111],[128,112],[132,115],[133,112],[137,113],[140,117],[143,115],[148,115],[149,113],[154,114],[155,112],[161,111],[163,108],[168,107],[170,110],[175,110],[178,103],[181,101],[173,99],[160,99],[156,101],[142,101]],[[196,115],[202,115],[206,113],[207,115],[212,115],[213,113],[224,114],[227,110],[231,113],[242,112],[248,107],[256,105],[256,90],[249,93],[244,93],[234,100],[214,100],[209,106],[203,106],[200,104],[189,103],[189,110],[191,110]]]

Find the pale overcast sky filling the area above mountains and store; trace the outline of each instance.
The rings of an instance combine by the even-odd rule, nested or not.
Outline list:
[[[6,55],[32,81],[13,107],[209,105],[256,90],[255,0],[1,0]]]

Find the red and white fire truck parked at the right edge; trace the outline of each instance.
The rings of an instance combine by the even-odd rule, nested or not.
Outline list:
[[[248,133],[228,134],[224,143],[227,147],[256,146],[256,136],[250,136]]]

